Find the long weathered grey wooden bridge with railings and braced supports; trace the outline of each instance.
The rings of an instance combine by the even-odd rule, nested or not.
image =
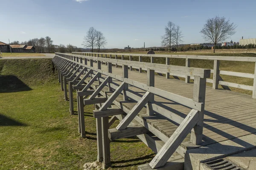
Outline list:
[[[132,61],[135,57],[138,61]],[[142,62],[142,57],[150,62]],[[166,64],[154,63],[157,57],[166,58]],[[186,59],[186,66],[169,65],[170,58]],[[191,59],[214,60],[214,69],[190,68]],[[140,170],[183,170],[188,149],[256,133],[256,74],[220,71],[220,60],[256,62],[253,57],[114,53],[56,53],[52,59],[71,114],[76,91],[82,137],[84,105],[95,105],[97,159],[103,168],[111,166],[112,140],[137,136],[156,153]],[[224,82],[220,74],[252,78],[253,86]],[[253,97],[218,85],[253,91]],[[109,129],[116,120],[119,125]]]

